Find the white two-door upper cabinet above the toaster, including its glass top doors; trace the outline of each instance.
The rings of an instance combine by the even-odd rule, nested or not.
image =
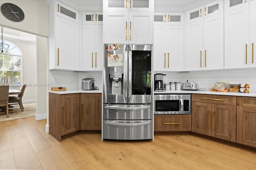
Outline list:
[[[186,11],[185,70],[224,68],[223,0]]]

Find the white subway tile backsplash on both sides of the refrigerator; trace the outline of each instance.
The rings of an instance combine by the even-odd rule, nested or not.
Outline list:
[[[166,74],[166,82],[196,82],[198,88],[210,90],[211,84],[226,81],[230,84],[250,83],[250,92],[256,92],[256,68],[229,70],[201,70],[191,72],[159,72]],[[102,72],[74,72],[49,70],[51,87],[66,87],[67,90],[82,89],[83,78],[94,78],[94,86],[102,90]],[[50,90],[50,88],[49,88]]]

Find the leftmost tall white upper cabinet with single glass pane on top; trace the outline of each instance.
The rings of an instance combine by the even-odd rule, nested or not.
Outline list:
[[[79,12],[52,1],[48,38],[49,69],[79,70]]]

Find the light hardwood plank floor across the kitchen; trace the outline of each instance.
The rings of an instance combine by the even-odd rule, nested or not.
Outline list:
[[[34,117],[0,122],[0,169],[255,170],[256,152],[190,134],[154,141],[101,141],[79,133],[58,142]]]

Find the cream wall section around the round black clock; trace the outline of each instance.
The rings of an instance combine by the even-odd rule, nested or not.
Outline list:
[[[44,0],[1,0],[0,5],[7,2],[19,6],[25,18],[20,22],[14,22],[0,12],[1,26],[48,37],[48,5]]]

